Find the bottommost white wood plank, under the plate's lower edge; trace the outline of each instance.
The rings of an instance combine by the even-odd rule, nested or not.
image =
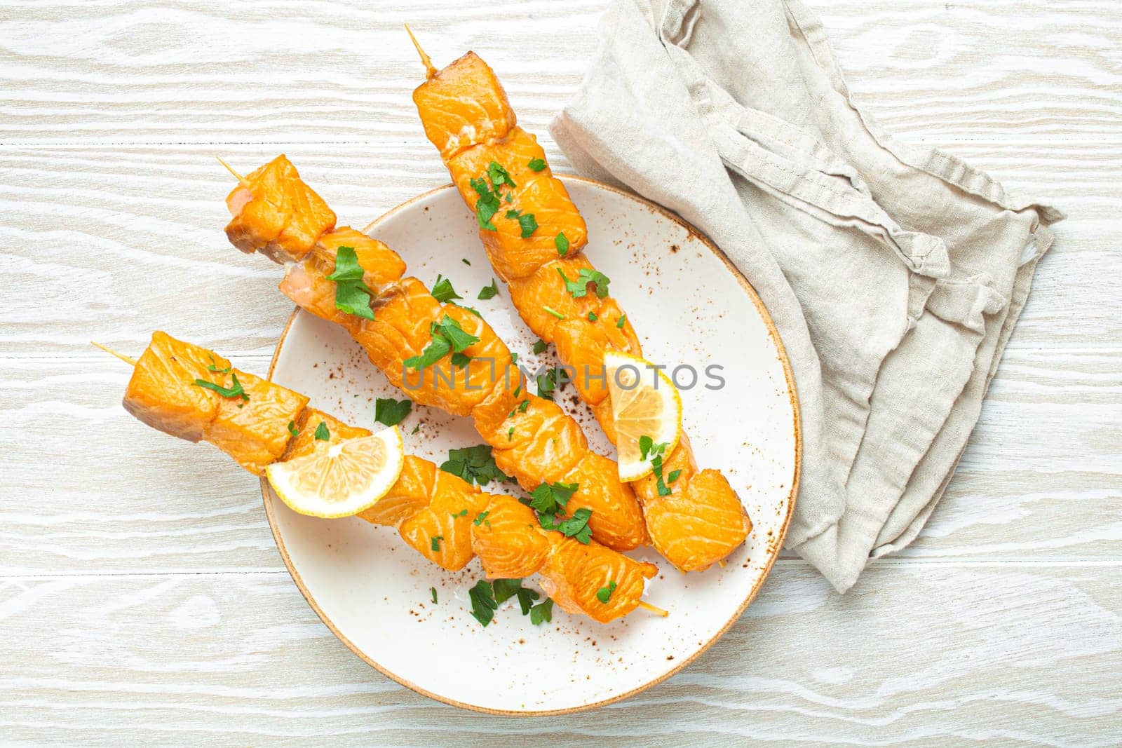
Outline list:
[[[531,721],[480,718],[396,685],[348,652],[283,573],[8,578],[0,735],[82,745],[1105,745],[1122,730],[1122,699],[1105,687],[1122,667],[1118,571],[881,562],[839,597],[808,566],[782,562],[683,673],[596,712]]]

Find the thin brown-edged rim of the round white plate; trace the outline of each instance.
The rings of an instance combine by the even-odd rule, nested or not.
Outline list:
[[[748,606],[751,606],[753,600],[756,599],[756,595],[763,588],[764,582],[766,582],[767,578],[771,576],[771,572],[775,565],[775,561],[779,560],[780,553],[783,550],[783,542],[787,538],[787,532],[791,525],[791,517],[794,515],[794,504],[798,500],[799,496],[799,478],[802,472],[802,416],[799,410],[799,394],[795,387],[794,372],[791,369],[791,360],[788,357],[787,349],[783,345],[783,339],[780,336],[779,330],[775,327],[775,322],[771,318],[771,314],[767,312],[767,307],[764,306],[764,303],[763,301],[761,301],[760,295],[756,293],[756,289],[752,286],[748,279],[744,277],[744,274],[741,273],[739,268],[737,268],[733,264],[733,261],[728,259],[728,256],[725,255],[725,252],[721,251],[721,249],[717,247],[717,244],[715,244],[712,240],[709,239],[709,237],[707,237],[705,233],[698,230],[693,224],[688,222],[686,219],[681,218],[680,215],[670,211],[669,209],[663,207],[657,203],[653,203],[650,200],[646,200],[645,197],[636,195],[632,192],[628,192],[626,190],[620,190],[615,185],[610,185],[600,182],[598,179],[591,179],[588,177],[570,175],[570,174],[558,174],[557,176],[561,178],[562,182],[581,182],[587,185],[591,185],[592,187],[615,193],[616,195],[619,195],[626,200],[638,203],[641,206],[652,210],[655,213],[659,213],[664,218],[670,219],[674,223],[686,229],[687,233],[698,239],[702,244],[705,244],[709,249],[709,251],[711,251],[721,262],[725,264],[726,269],[728,269],[728,271],[733,275],[736,281],[744,289],[744,292],[748,295],[748,298],[752,299],[752,304],[756,307],[756,312],[760,314],[761,318],[763,320],[764,324],[767,327],[769,334],[775,342],[775,351],[776,354],[779,355],[780,363],[783,367],[783,376],[784,379],[787,380],[788,399],[791,403],[792,419],[793,419],[792,428],[794,430],[794,475],[791,481],[791,489],[788,491],[787,516],[783,518],[783,524],[780,527],[779,536],[775,538],[774,547],[776,550],[767,558],[767,563],[764,566],[763,574],[760,575],[760,579],[748,591],[748,594],[744,598],[744,602],[741,603],[741,606],[736,609],[736,611],[728,618],[727,621],[725,621],[725,624],[720,627],[719,630],[717,630],[716,634],[714,634],[705,644],[698,647],[697,650],[695,650],[689,657],[683,658],[680,663],[674,665],[674,667],[670,668],[669,671],[666,671],[661,675],[651,678],[650,681],[643,683],[642,685],[635,686],[629,691],[609,696],[607,699],[601,699],[599,701],[595,701],[588,704],[581,704],[579,707],[567,707],[564,709],[546,709],[546,710],[494,709],[490,707],[480,707],[478,704],[468,704],[461,701],[457,701],[454,699],[450,699],[448,696],[442,696],[440,694],[429,691],[427,689],[419,686],[417,684],[411,682],[405,677],[402,677],[401,675],[397,675],[396,673],[390,672],[387,667],[376,662],[373,657],[362,652],[358,646],[355,645],[355,643],[352,643],[349,638],[347,638],[347,636],[343,635],[343,632],[335,627],[334,621],[332,621],[331,618],[323,611],[323,609],[320,608],[319,603],[315,601],[315,598],[312,595],[311,590],[307,589],[307,587],[304,584],[304,580],[300,576],[300,572],[297,572],[295,566],[293,565],[293,561],[288,555],[288,548],[285,546],[284,538],[280,536],[276,516],[273,510],[273,502],[269,500],[268,481],[263,475],[260,478],[261,502],[265,505],[265,516],[269,523],[269,530],[273,533],[273,541],[276,543],[277,551],[280,553],[280,560],[284,562],[285,569],[288,570],[288,575],[292,576],[292,581],[296,584],[296,589],[298,589],[300,593],[304,595],[304,600],[312,608],[315,615],[319,616],[323,625],[328,627],[328,630],[330,630],[335,636],[335,638],[342,641],[348,649],[355,653],[355,655],[357,655],[359,659],[361,659],[367,665],[375,668],[386,677],[398,683],[399,685],[404,685],[411,691],[420,693],[423,696],[427,696],[433,701],[449,704],[451,707],[458,707],[460,709],[466,709],[468,711],[480,712],[485,714],[494,714],[499,717],[558,717],[562,714],[573,714],[578,712],[591,711],[594,709],[599,709],[600,707],[607,707],[608,704],[614,704],[625,699],[629,699],[634,695],[642,693],[643,691],[646,691],[647,689],[652,689],[659,685],[663,681],[682,672],[686,667],[691,665],[698,657],[708,652],[709,648],[714,644],[716,644],[718,639],[725,636],[725,634],[728,632],[728,629],[730,629],[736,624],[736,621],[741,619],[741,616],[744,615],[744,611],[747,610]],[[451,183],[443,184],[439,187],[433,187],[432,190],[427,190],[417,195],[414,195],[413,197],[395,205],[394,207],[390,207],[388,211],[386,211],[378,218],[370,221],[370,223],[368,223],[366,227],[362,228],[362,233],[369,234],[371,229],[383,223],[384,221],[387,221],[388,219],[393,218],[397,213],[407,210],[414,203],[430,198],[436,195],[438,193],[448,190],[456,190],[456,185]],[[292,325],[296,321],[296,317],[300,314],[300,312],[301,310],[298,306],[293,308],[292,314],[288,315],[288,321],[285,322],[284,330],[280,331],[280,335],[279,338],[277,338],[276,345],[273,349],[273,358],[269,361],[268,373],[266,375],[266,379],[269,381],[273,381],[273,373],[274,370],[276,369],[277,361],[280,358],[280,349],[284,348],[285,340],[288,338],[288,332],[292,330]]]

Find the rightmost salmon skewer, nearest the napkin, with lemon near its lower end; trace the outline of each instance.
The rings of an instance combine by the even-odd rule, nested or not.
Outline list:
[[[607,294],[607,278],[596,284],[596,293],[588,284],[578,286],[585,293],[571,289],[580,278],[598,277],[581,251],[588,241],[585,220],[551,173],[537,140],[517,127],[487,63],[469,52],[436,71],[419,45],[417,52],[426,80],[413,101],[425,135],[479,219],[491,266],[508,285],[523,321],[554,343],[561,361],[576,372],[577,391],[615,443],[607,382],[596,375],[604,372],[607,350],[642,351],[631,318]],[[681,470],[669,495],[660,496],[654,475],[632,483],[652,544],[682,571],[723,561],[752,532],[736,491],[720,472],[698,470],[686,434],[664,465]]]

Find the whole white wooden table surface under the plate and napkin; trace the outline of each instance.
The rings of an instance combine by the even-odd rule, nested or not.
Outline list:
[[[291,306],[227,244],[213,156],[286,151],[361,225],[447,181],[404,21],[439,63],[484,53],[546,136],[603,0],[2,4],[0,742],[1122,740],[1118,0],[811,2],[889,130],[1069,220],[914,545],[845,597],[784,558],[686,672],[537,720],[351,655],[284,570],[257,481],[127,416],[127,372],[88,341],[136,352],[162,327],[265,370]]]

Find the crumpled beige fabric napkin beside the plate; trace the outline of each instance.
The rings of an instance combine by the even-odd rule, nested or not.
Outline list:
[[[617,0],[601,35],[553,136],[760,293],[802,408],[788,545],[845,591],[942,495],[1063,214],[882,132],[797,0]]]

